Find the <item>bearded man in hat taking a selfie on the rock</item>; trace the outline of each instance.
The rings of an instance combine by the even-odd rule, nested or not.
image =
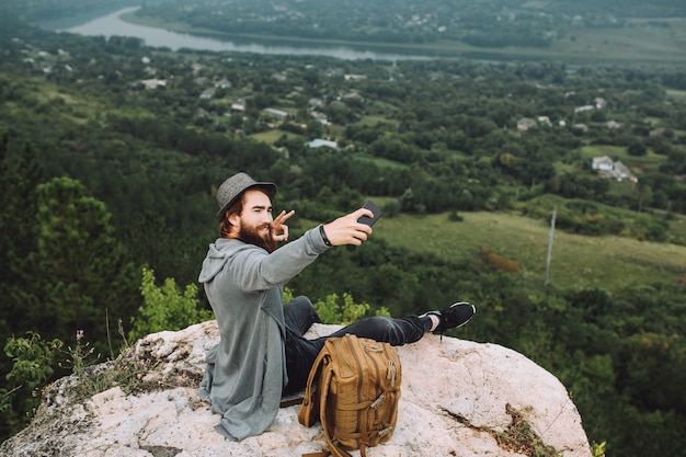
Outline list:
[[[217,191],[220,238],[209,245],[198,281],[217,318],[220,341],[207,354],[198,395],[221,414],[217,431],[240,441],[265,431],[278,412],[283,393],[305,387],[327,338],[346,333],[402,345],[426,332],[444,332],[466,323],[473,305],[457,302],[445,310],[404,319],[374,317],[329,336],[302,335],[320,322],[307,297],[283,304],[283,286],[331,247],[359,245],[371,228],[357,221],[373,216],[357,209],[286,241],[284,222],[294,212],[272,217],[276,185],[245,173],[226,180]]]

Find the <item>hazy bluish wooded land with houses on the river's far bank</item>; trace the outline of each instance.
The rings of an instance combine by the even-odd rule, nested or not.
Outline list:
[[[622,27],[632,18],[684,16],[676,1],[530,2],[426,0],[421,3],[345,0],[244,2],[162,1],[146,4],[144,16],[182,22],[194,28],[233,34],[297,36],[318,39],[384,43],[456,41],[483,47],[548,47],[584,27]],[[664,26],[670,26],[664,22]]]

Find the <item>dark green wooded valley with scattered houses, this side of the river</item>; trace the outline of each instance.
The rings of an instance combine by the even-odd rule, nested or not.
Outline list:
[[[679,66],[172,53],[9,15],[0,52],[2,438],[84,341],[104,362],[210,318],[195,284],[217,236],[214,193],[237,171],[278,184],[294,236],[371,197],[414,227],[481,213],[547,225],[554,207],[560,231],[686,245]],[[630,174],[604,176],[604,156]],[[445,256],[379,233],[288,288],[393,316],[473,301],[478,319],[455,334],[553,373],[607,456],[683,455],[686,265],[649,265],[650,283],[544,287],[523,256]],[[191,308],[155,315],[157,289]]]

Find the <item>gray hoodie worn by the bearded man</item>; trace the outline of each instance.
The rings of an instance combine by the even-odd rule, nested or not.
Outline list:
[[[219,325],[198,391],[221,414],[217,431],[240,441],[274,421],[288,379],[283,286],[328,247],[318,228],[268,254],[236,239],[209,244],[198,281]]]

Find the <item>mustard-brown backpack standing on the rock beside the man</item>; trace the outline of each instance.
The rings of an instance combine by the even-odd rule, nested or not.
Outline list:
[[[298,422],[309,427],[321,421],[335,457],[351,457],[345,449],[366,457],[367,447],[393,434],[400,382],[400,357],[390,344],[352,334],[330,338],[310,369]]]

